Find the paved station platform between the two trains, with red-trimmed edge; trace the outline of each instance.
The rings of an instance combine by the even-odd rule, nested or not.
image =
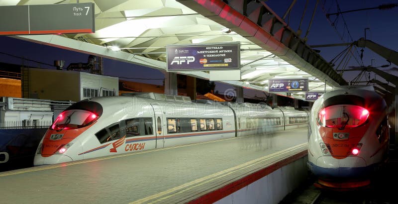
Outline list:
[[[300,128],[32,167],[0,173],[0,203],[213,203],[306,152]]]

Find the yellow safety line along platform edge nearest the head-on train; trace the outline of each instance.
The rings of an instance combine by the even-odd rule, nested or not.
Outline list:
[[[235,167],[232,167],[232,168],[229,168],[229,169],[226,169],[226,170],[223,170],[223,171],[214,173],[214,174],[209,175],[209,176],[202,177],[202,178],[200,178],[200,179],[197,179],[197,180],[195,180],[195,181],[192,181],[192,182],[189,182],[189,183],[180,185],[180,186],[178,186],[178,187],[175,187],[175,188],[172,188],[172,189],[169,189],[169,190],[160,192],[160,193],[158,193],[158,194],[155,194],[155,195],[152,195],[152,196],[149,196],[149,197],[146,197],[146,198],[143,198],[143,199],[140,199],[140,200],[131,202],[130,204],[141,204],[141,203],[146,203],[146,202],[149,202],[149,201],[151,201],[151,200],[155,200],[155,199],[157,199],[157,198],[159,198],[159,197],[163,197],[163,196],[166,196],[166,195],[168,195],[168,194],[171,194],[171,193],[173,193],[173,192],[175,192],[175,191],[181,191],[181,192],[178,192],[178,193],[169,195],[169,196],[167,196],[167,197],[165,197],[165,198],[160,198],[160,199],[158,199],[158,200],[153,201],[153,203],[160,202],[160,201],[165,200],[165,199],[167,199],[167,198],[170,198],[170,197],[176,196],[176,195],[178,195],[178,194],[184,193],[185,191],[188,191],[188,190],[190,190],[190,189],[192,189],[192,188],[195,188],[195,187],[197,187],[197,186],[201,186],[201,185],[203,185],[203,184],[205,184],[205,183],[208,183],[208,182],[211,182],[211,181],[213,181],[213,180],[215,180],[215,179],[222,178],[222,177],[224,177],[224,176],[227,176],[227,175],[229,175],[229,174],[232,174],[232,173],[234,173],[235,171],[238,171],[238,170],[241,170],[241,169],[243,169],[243,168],[247,168],[247,167],[253,166],[253,165],[257,164],[257,163],[264,162],[264,160],[267,160],[267,159],[269,159],[269,158],[271,158],[271,157],[282,155],[282,154],[284,154],[284,153],[293,151],[293,150],[298,149],[298,148],[300,148],[300,147],[302,148],[302,147],[304,147],[304,146],[306,146],[306,145],[307,145],[307,143],[298,144],[298,145],[296,145],[296,146],[294,146],[294,147],[291,147],[291,148],[288,148],[288,149],[284,149],[284,150],[281,150],[281,151],[279,151],[279,152],[275,152],[275,153],[266,155],[266,156],[264,156],[264,157],[257,158],[257,159],[255,159],[255,160],[246,162],[246,163],[244,163],[244,164],[241,164],[241,165],[238,165],[238,166],[235,166]],[[273,162],[275,162],[275,161],[273,161]],[[229,172],[229,173],[228,173],[228,172]],[[213,177],[214,177],[214,178],[213,178]],[[193,185],[194,185],[194,186],[193,186]],[[192,186],[192,187],[190,187],[190,186]],[[189,188],[189,187],[190,187],[190,188]]]

